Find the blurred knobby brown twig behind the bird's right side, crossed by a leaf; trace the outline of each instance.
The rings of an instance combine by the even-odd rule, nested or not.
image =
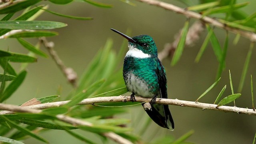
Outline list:
[[[204,29],[205,29],[205,26],[203,22],[201,21],[194,22],[194,24],[190,26],[188,30],[185,46],[192,46],[197,40],[199,40],[199,36],[204,31]],[[178,34],[176,34],[175,40],[174,42],[172,42],[172,44],[170,43],[165,44],[164,49],[158,53],[158,58],[160,61],[174,54],[174,51],[180,40],[180,33],[181,31]]]

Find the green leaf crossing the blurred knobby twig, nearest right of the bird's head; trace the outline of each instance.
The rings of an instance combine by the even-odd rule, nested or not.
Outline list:
[[[181,35],[180,35],[180,40],[178,42],[177,48],[176,48],[176,50],[174,52],[174,55],[172,57],[171,66],[174,66],[178,62],[178,60],[180,60],[180,57],[182,55],[182,52],[183,52],[183,49],[184,49],[184,46],[185,46],[185,43],[186,43],[186,36],[187,36],[187,33],[188,33],[188,28],[189,28],[189,20],[187,20],[185,22],[185,25],[182,28],[182,32],[181,32]]]

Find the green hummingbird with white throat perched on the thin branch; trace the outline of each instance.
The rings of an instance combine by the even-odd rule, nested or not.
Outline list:
[[[111,28],[128,40],[128,52],[124,58],[123,77],[131,101],[136,96],[152,98],[151,108],[145,111],[159,126],[174,130],[174,122],[168,105],[156,104],[156,98],[167,97],[167,80],[164,66],[157,57],[156,44],[151,36],[129,37]],[[145,103],[142,103],[142,106]]]

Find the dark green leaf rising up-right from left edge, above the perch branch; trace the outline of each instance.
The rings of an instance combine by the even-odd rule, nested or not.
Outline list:
[[[0,102],[3,102],[7,98],[9,98],[18,89],[18,87],[20,86],[20,84],[22,84],[24,78],[26,77],[26,74],[27,72],[25,70],[20,72],[16,79],[13,80],[4,90],[4,93],[0,98]]]

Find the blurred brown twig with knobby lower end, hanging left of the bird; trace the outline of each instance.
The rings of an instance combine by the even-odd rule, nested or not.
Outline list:
[[[44,44],[44,46],[47,48],[48,52],[52,56],[52,59],[54,62],[57,64],[57,66],[61,69],[63,74],[66,76],[68,79],[68,82],[72,84],[74,88],[76,88],[76,79],[77,75],[76,72],[72,68],[67,68],[60,57],[58,56],[57,52],[53,49],[54,43],[53,42],[48,42],[45,37],[39,38],[39,40]]]

